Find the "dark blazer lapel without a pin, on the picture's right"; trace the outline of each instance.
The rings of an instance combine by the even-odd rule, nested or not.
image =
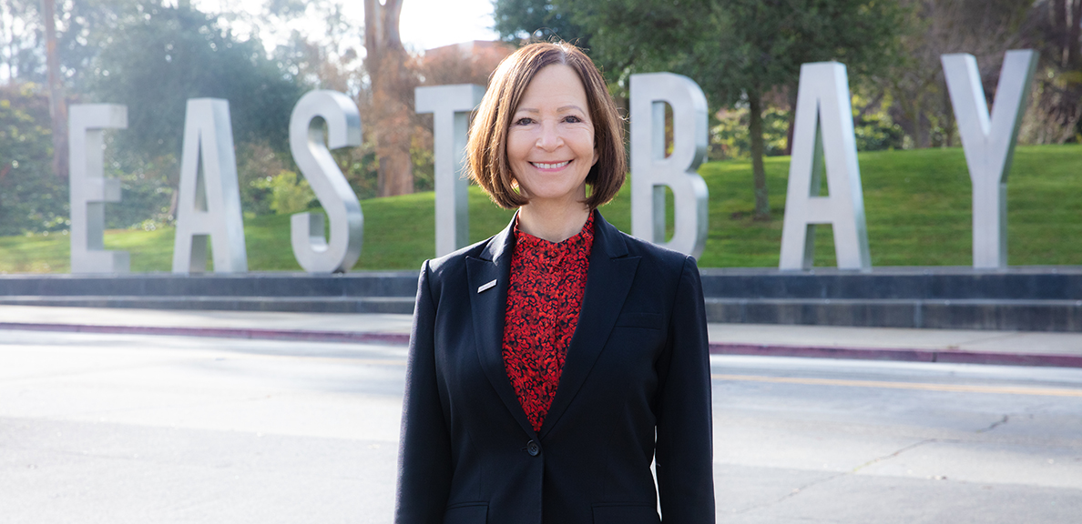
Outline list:
[[[628,246],[620,231],[595,211],[594,244],[590,253],[590,268],[586,270],[582,310],[570,347],[567,348],[556,397],[541,425],[542,439],[567,411],[590,375],[623,308],[638,269],[638,260],[637,256],[628,256]]]

